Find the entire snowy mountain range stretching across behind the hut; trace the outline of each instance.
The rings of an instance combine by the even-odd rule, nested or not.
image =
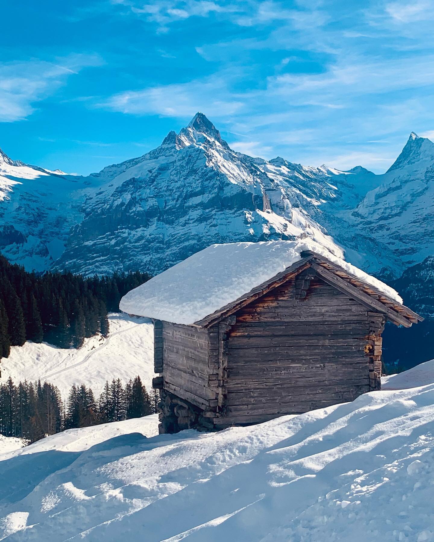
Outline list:
[[[310,237],[398,278],[434,249],[434,144],[411,134],[384,175],[234,152],[205,115],[88,177],[0,153],[0,250],[27,269],[152,274],[212,243]]]

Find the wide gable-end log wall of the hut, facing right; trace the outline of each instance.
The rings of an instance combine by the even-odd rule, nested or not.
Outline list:
[[[215,423],[256,423],[369,391],[368,309],[317,278],[299,297],[290,281],[236,314],[225,417]]]

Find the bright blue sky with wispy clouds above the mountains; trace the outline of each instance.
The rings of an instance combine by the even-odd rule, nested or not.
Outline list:
[[[0,147],[90,173],[197,111],[236,150],[385,171],[434,138],[434,1],[46,0],[2,6]]]

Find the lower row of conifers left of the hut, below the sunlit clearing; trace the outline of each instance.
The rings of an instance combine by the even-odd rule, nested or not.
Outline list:
[[[136,376],[126,383],[106,382],[99,400],[91,388],[73,385],[66,404],[56,386],[48,382],[0,384],[0,434],[36,442],[64,429],[139,418],[157,412],[158,391],[149,394]]]

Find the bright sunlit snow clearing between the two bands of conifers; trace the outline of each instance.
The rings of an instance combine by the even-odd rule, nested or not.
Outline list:
[[[152,322],[118,313],[109,314],[108,319],[108,338],[97,335],[86,339],[79,350],[31,342],[12,346],[9,358],[2,359],[0,382],[9,376],[15,383],[40,378],[58,386],[63,397],[72,384],[84,383],[98,396],[106,380],[120,378],[125,383],[139,375],[149,388],[154,377]]]

